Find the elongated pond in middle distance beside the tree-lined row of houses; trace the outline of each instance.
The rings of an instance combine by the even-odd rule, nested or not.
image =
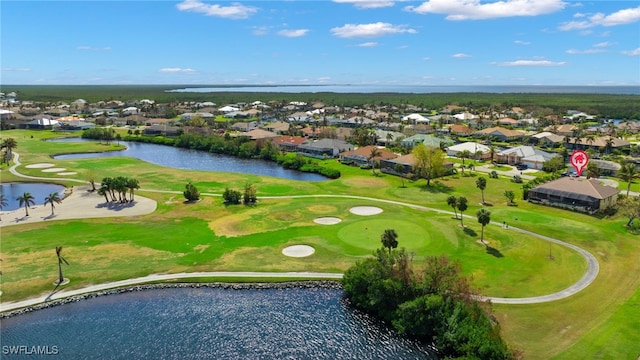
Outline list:
[[[81,138],[56,139],[58,142],[93,141]],[[275,162],[240,159],[233,156],[212,154],[206,151],[182,149],[173,146],[121,141],[127,146],[123,151],[109,151],[89,154],[58,155],[56,159],[83,159],[111,156],[130,156],[157,165],[185,170],[228,171],[242,174],[271,176],[289,180],[324,181],[326,177],[285,169]]]

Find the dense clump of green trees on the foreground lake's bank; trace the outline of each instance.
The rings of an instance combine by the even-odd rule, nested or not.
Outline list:
[[[374,257],[344,274],[345,295],[354,307],[433,346],[441,358],[516,358],[457,264],[445,256],[427,257],[424,267],[414,270],[412,255],[391,251],[395,236],[383,234],[382,241]]]

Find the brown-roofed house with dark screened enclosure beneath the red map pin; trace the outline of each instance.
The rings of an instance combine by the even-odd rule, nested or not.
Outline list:
[[[615,205],[620,191],[596,179],[562,177],[527,192],[529,202],[595,213]]]

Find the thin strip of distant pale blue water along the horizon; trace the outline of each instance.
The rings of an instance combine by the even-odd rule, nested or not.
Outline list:
[[[202,86],[168,92],[283,92],[283,93],[549,93],[549,94],[633,94],[640,86],[547,86],[547,85],[278,85],[278,86]]]

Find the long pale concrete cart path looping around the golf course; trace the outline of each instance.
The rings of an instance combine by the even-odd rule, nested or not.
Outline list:
[[[51,180],[51,178],[38,178],[38,177],[31,177],[31,176],[26,176],[26,175],[22,175],[20,174],[17,170],[16,167],[20,165],[20,163],[17,161],[18,160],[18,154],[14,152],[14,156],[15,156],[15,162],[16,165],[12,166],[10,168],[10,171],[12,174],[16,175],[16,176],[22,176],[22,177],[27,177],[27,178],[32,178],[32,179],[42,179],[42,180]],[[64,180],[73,180],[73,181],[77,181],[77,182],[82,182],[82,183],[86,183],[85,181],[82,180],[77,180],[77,179],[64,179]],[[158,192],[158,193],[172,193],[172,194],[182,194],[182,192],[180,191],[166,191],[166,190],[152,190],[152,189],[140,189],[141,191],[148,191],[148,192]],[[201,193],[201,195],[204,196],[221,196],[220,194],[207,194],[207,193]],[[377,198],[371,198],[371,197],[366,197],[366,196],[356,196],[356,195],[292,195],[292,196],[263,196],[261,197],[263,199],[304,199],[304,198],[343,198],[343,199],[357,199],[357,200],[365,200],[365,201],[372,201],[372,202],[378,202],[378,203],[386,203],[386,204],[393,204],[393,205],[400,205],[400,206],[406,206],[409,208],[413,208],[413,209],[418,209],[418,210],[423,210],[423,211],[434,211],[437,212],[439,214],[450,214],[453,215],[454,213],[451,211],[446,211],[446,210],[440,210],[440,209],[435,209],[435,208],[429,208],[426,206],[421,206],[421,205],[415,205],[415,204],[409,204],[409,203],[404,203],[401,201],[394,201],[394,200],[385,200],[385,199],[377,199]],[[466,218],[470,218],[473,219],[472,216],[470,215],[463,215]],[[491,222],[491,225],[495,225],[495,226],[502,226],[501,223],[498,222]],[[479,300],[482,301],[491,301],[492,303],[495,304],[537,304],[537,303],[544,303],[544,302],[551,302],[551,301],[556,301],[556,300],[560,300],[560,299],[565,299],[569,296],[572,296],[582,290],[584,290],[587,286],[589,286],[598,276],[598,272],[600,271],[600,265],[598,264],[598,260],[588,251],[575,246],[573,244],[569,244],[567,242],[558,240],[558,239],[554,239],[548,236],[544,236],[544,235],[540,235],[540,234],[536,234],[524,229],[520,229],[517,227],[513,227],[513,226],[509,226],[509,230],[511,231],[517,231],[523,234],[527,234],[527,235],[531,235],[534,237],[537,237],[541,240],[544,241],[548,241],[554,244],[558,244],[561,246],[565,246],[571,250],[574,250],[576,252],[578,252],[580,255],[582,255],[582,257],[586,260],[587,262],[587,271],[585,272],[585,274],[582,276],[582,278],[580,278],[580,280],[578,280],[576,283],[574,283],[573,285],[569,286],[568,288],[558,291],[556,293],[552,293],[552,294],[548,294],[548,295],[542,295],[542,296],[534,296],[534,297],[526,297],[526,298],[502,298],[502,297],[479,297]],[[205,274],[205,275],[203,275]],[[230,275],[206,275],[206,274],[230,274]],[[243,275],[243,274],[253,274],[253,275]],[[93,292],[93,291],[100,291],[100,290],[104,290],[104,289],[111,289],[111,288],[115,288],[115,287],[119,287],[119,286],[127,286],[127,285],[132,285],[132,284],[141,284],[144,282],[150,282],[150,281],[158,281],[158,280],[174,280],[174,279],[184,279],[184,278],[193,278],[193,277],[207,277],[207,276],[245,276],[245,277],[260,277],[259,275],[255,275],[255,274],[264,274],[264,277],[291,277],[291,274],[294,274],[295,276],[293,277],[303,277],[303,278],[309,278],[309,277],[314,277],[313,275],[309,275],[309,274],[315,274],[317,278],[323,278],[323,279],[340,279],[342,278],[342,274],[337,274],[337,273],[225,273],[225,272],[214,272],[214,273],[181,273],[181,274],[163,274],[163,275],[149,275],[148,277],[142,277],[142,278],[136,278],[136,279],[130,279],[130,280],[123,280],[121,282],[126,282],[126,281],[132,281],[132,283],[129,284],[124,284],[124,285],[120,285],[121,282],[114,282],[114,283],[105,283],[102,285],[96,285],[91,286],[91,287],[87,287],[87,288],[83,288],[83,289],[77,289],[77,290],[73,290],[70,292],[64,292],[64,291],[60,291],[59,294],[62,297],[65,296],[72,296],[72,295],[77,295],[77,294],[83,294],[83,293],[88,293],[88,292]],[[280,275],[278,275],[280,274]],[[288,274],[288,275],[287,275]],[[301,275],[301,274],[306,274],[306,275]],[[327,277],[322,277],[322,276],[327,276]],[[160,277],[160,278],[156,278],[156,277]],[[150,278],[149,280],[146,280],[147,278]],[[114,285],[116,284],[116,285]],[[101,288],[96,288],[96,287],[101,287],[101,286],[105,286],[106,288],[101,289]],[[71,293],[74,294],[71,294]],[[57,298],[54,297],[53,298]],[[29,302],[32,301],[34,302],[34,304],[37,304],[39,302],[42,302],[42,299],[29,299],[29,300],[25,300],[25,302]],[[23,303],[23,302],[19,302],[19,303]],[[8,304],[19,304],[19,303],[8,303]],[[31,304],[33,305],[33,304]],[[15,305],[13,305],[15,306]],[[30,305],[22,305],[22,306],[18,306],[19,307],[24,307],[24,306],[30,306]],[[3,311],[7,311],[7,310],[11,310],[11,309],[5,309],[5,304],[0,304],[0,312]]]

